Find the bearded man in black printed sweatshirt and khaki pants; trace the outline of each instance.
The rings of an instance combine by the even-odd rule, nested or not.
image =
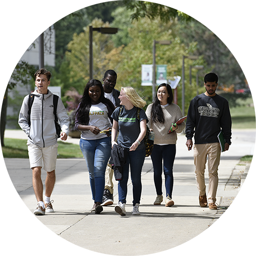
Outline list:
[[[207,206],[204,172],[208,155],[208,203],[211,210],[217,209],[215,202],[221,155],[218,135],[221,129],[225,140],[223,151],[227,151],[231,144],[231,116],[228,101],[216,94],[217,86],[218,76],[215,73],[206,74],[204,77],[206,92],[191,100],[186,121],[186,146],[188,151],[192,149],[192,138],[195,133],[194,163],[201,207]]]

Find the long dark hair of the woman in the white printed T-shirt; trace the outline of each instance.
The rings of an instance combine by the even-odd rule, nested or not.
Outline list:
[[[101,95],[100,95],[99,101],[102,103],[106,103],[106,105],[109,105],[110,109],[113,112],[115,110],[115,106],[113,105],[113,103],[109,99],[106,99],[104,97],[104,90],[103,90],[103,86],[102,86],[101,82],[97,79],[92,79],[87,83],[86,88],[84,88],[83,95],[80,100],[79,108],[76,111],[76,120],[77,120],[77,122],[79,122],[80,124],[83,124],[83,125],[88,125],[89,120],[90,120],[89,111],[92,106],[92,102],[91,102],[91,98],[89,96],[89,89],[92,86],[98,86],[100,88]]]

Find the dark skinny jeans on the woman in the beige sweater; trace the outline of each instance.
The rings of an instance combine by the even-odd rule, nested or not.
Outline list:
[[[162,169],[165,178],[166,197],[172,198],[174,187],[173,166],[176,155],[176,144],[157,145],[153,147],[151,159],[154,168],[154,182],[157,195],[162,195]],[[162,167],[163,160],[163,167]]]

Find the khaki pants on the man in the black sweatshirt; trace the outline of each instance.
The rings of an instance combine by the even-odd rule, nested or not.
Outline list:
[[[208,155],[208,203],[216,202],[216,194],[218,188],[218,166],[220,164],[221,147],[220,143],[207,143],[194,145],[194,163],[196,166],[196,182],[199,195],[203,196],[206,193],[204,181],[205,164]]]

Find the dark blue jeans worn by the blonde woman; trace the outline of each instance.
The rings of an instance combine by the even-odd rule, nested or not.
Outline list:
[[[119,202],[126,203],[127,182],[129,178],[129,165],[133,183],[133,206],[140,203],[142,184],[141,171],[145,160],[145,147],[142,150],[129,151],[126,163],[123,166],[123,178],[118,182]]]

